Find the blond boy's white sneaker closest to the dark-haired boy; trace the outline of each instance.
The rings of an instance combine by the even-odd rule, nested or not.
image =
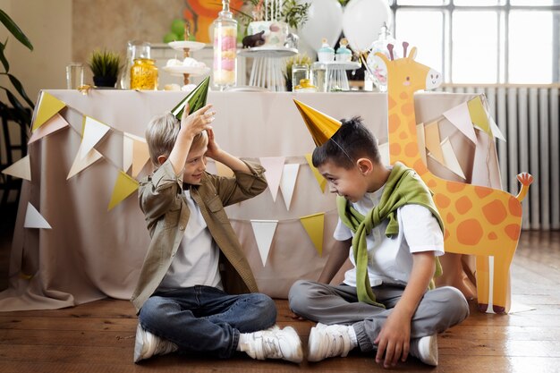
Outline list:
[[[301,339],[292,326],[284,329],[272,326],[267,330],[246,333],[240,338],[239,347],[257,360],[284,359],[296,363],[303,360]]]

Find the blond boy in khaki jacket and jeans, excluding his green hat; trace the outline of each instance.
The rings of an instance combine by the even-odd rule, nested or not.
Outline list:
[[[139,189],[151,242],[132,295],[139,314],[134,362],[175,351],[300,362],[300,338],[292,327],[275,326],[275,303],[257,292],[224,209],[264,191],[265,170],[217,145],[210,105],[188,112],[181,123],[158,115],[146,131],[157,169]],[[233,177],[208,174],[207,157]]]

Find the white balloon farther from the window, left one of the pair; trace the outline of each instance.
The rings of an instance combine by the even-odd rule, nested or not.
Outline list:
[[[338,0],[300,0],[310,3],[308,20],[301,27],[300,37],[314,50],[321,47],[321,39],[327,38],[328,44],[335,43],[343,32],[343,8]]]

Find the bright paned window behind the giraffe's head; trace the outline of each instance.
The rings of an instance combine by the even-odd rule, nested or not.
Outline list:
[[[560,81],[560,0],[387,0],[393,35],[451,83]]]

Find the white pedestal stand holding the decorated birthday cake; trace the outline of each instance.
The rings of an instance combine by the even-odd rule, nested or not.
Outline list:
[[[254,58],[250,69],[249,85],[276,92],[286,90],[282,74],[284,57],[297,53],[297,49],[286,47],[252,47],[237,52],[238,55]]]

